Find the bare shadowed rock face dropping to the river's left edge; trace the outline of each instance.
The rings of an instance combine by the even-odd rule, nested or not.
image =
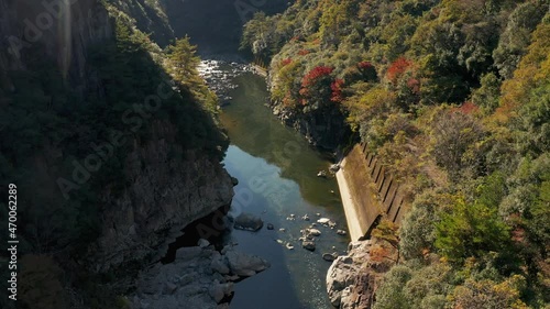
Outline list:
[[[174,134],[169,123],[156,123],[151,141],[134,143],[125,158],[130,186],[102,194],[101,236],[88,254],[94,271],[158,260],[185,225],[230,205],[227,170],[200,151],[184,152]],[[173,158],[173,152],[184,152],[185,159]]]

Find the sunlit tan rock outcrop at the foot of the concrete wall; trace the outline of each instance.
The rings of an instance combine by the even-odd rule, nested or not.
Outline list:
[[[339,309],[369,309],[373,305],[376,274],[371,269],[371,241],[350,243],[348,255],[332,262],[327,273],[330,302]]]

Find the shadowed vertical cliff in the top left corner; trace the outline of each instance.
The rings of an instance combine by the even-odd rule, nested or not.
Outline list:
[[[86,86],[87,48],[112,37],[112,32],[108,12],[97,0],[0,0],[0,68],[8,79],[6,73],[25,69],[28,52],[37,49],[72,82]]]

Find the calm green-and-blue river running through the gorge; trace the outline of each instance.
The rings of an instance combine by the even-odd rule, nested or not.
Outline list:
[[[229,65],[221,66],[222,75],[234,71]],[[336,179],[317,177],[330,162],[271,113],[265,106],[268,93],[263,77],[243,73],[228,81],[238,86],[227,93],[220,114],[231,139],[223,163],[239,179],[230,212],[254,213],[275,227],[267,230],[264,224],[258,232],[231,233],[240,251],[268,260],[272,267],[237,284],[230,308],[332,308],[324,283],[330,263],[322,260],[322,253],[344,253],[349,238],[337,234],[337,229],[346,228]],[[290,214],[296,220],[287,220]],[[302,220],[305,214],[311,221]],[[298,239],[300,230],[316,222],[318,214],[338,225],[330,229],[318,224],[322,234],[316,251],[310,252]]]

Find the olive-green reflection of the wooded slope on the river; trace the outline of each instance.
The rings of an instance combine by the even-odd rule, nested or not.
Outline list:
[[[304,136],[284,126],[262,106],[268,101],[265,80],[243,74],[234,82],[240,87],[230,92],[233,103],[221,114],[231,143],[278,166],[280,177],[296,181],[301,195],[311,203],[339,203],[336,180],[317,177],[319,170],[329,167],[327,155],[312,150]]]

